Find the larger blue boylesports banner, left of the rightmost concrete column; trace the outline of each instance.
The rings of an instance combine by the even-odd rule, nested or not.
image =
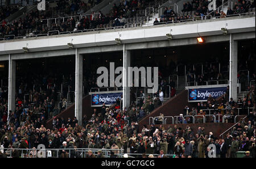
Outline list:
[[[224,95],[226,87],[209,87],[209,88],[190,88],[188,90],[188,101],[205,101],[209,95],[217,99]]]

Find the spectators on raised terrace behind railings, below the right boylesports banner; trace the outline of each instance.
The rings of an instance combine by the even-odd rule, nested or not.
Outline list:
[[[228,90],[229,88],[227,88],[227,91]],[[253,112],[255,112],[255,87],[251,86],[248,90],[249,92],[247,92],[244,98],[238,98],[237,102],[235,102],[233,98],[230,98],[230,100],[227,99],[228,92],[225,97],[223,95],[217,99],[212,98],[210,95],[207,102],[197,103],[190,108],[186,106],[184,108],[183,116],[214,115],[216,116],[216,122],[234,122],[234,117],[236,115],[253,116]],[[222,121],[224,115],[225,121]],[[180,120],[182,123],[182,119]],[[213,122],[213,117],[209,116],[206,120],[206,122]],[[184,123],[192,122],[192,117],[186,117],[184,119]],[[195,122],[203,122],[203,116],[197,116]]]

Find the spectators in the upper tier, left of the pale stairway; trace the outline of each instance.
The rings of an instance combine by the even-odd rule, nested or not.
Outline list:
[[[98,3],[98,2],[97,2]],[[143,22],[144,10],[146,7],[155,4],[154,0],[150,1],[126,1],[122,0],[120,5],[113,5],[109,14],[102,14],[101,11],[92,12],[90,15],[73,18],[49,20],[47,18],[59,18],[64,16],[83,15],[88,11],[96,1],[84,3],[81,0],[74,0],[71,3],[67,1],[58,1],[56,7],[49,7],[47,4],[46,11],[31,11],[24,18],[13,21],[13,25],[3,26],[0,29],[2,37],[5,35],[30,36],[42,35],[48,31],[72,32],[83,31],[84,29],[105,28],[123,26],[128,22]],[[137,17],[137,19],[133,19]],[[53,33],[54,34],[54,33]],[[13,37],[9,37],[13,38]]]

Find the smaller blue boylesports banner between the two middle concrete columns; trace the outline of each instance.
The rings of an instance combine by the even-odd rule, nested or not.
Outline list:
[[[116,102],[117,98],[119,98],[119,100],[121,100],[122,95],[123,95],[122,92],[105,93],[105,94],[92,94],[92,105],[100,106],[103,103],[105,103],[105,105],[111,105],[111,104],[114,104]]]

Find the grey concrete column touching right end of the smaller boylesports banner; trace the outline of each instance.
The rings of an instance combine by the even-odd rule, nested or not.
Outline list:
[[[131,62],[131,51],[125,50],[125,44],[123,44],[123,109],[130,106],[130,87],[128,87],[128,67]]]

